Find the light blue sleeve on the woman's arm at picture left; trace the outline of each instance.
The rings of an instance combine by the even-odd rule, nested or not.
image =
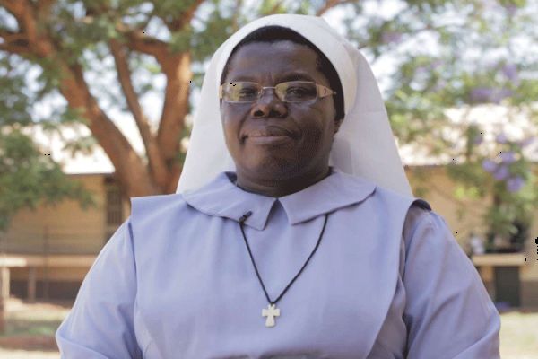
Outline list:
[[[56,331],[62,359],[142,358],[134,336],[136,271],[130,223],[101,250]]]

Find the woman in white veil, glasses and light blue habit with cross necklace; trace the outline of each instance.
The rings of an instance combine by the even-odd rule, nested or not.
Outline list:
[[[63,357],[499,357],[480,277],[411,196],[369,66],[323,20],[238,31],[198,108],[180,194],[133,200]]]

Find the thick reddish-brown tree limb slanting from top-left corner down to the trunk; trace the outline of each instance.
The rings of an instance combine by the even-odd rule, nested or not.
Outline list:
[[[45,0],[47,5],[52,2]],[[65,97],[71,109],[81,110],[82,117],[88,120],[91,133],[99,141],[108,158],[116,169],[116,175],[124,185],[126,195],[138,197],[162,193],[150,176],[146,165],[135,153],[117,126],[100,109],[97,100],[91,95],[86,83],[82,66],[68,63],[61,57],[59,44],[55,44],[47,27],[38,26],[39,9],[29,0],[0,0],[0,5],[13,13],[19,22],[19,33],[2,30],[0,49],[13,52],[25,52],[32,57],[47,57],[56,62],[61,75],[59,91]],[[22,46],[24,45],[24,46]],[[166,49],[166,46],[164,47]],[[166,52],[165,52],[166,54]]]

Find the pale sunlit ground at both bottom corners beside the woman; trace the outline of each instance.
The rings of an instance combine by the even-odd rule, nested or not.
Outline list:
[[[0,359],[59,359],[54,333],[69,311],[68,303],[6,302],[6,332],[0,335]],[[501,315],[503,359],[538,359],[538,312]]]

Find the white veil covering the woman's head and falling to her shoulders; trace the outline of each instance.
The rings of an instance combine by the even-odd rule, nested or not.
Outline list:
[[[215,52],[204,77],[178,193],[201,188],[222,171],[235,171],[221,126],[218,89],[233,48],[253,31],[282,26],[308,39],[331,61],[343,88],[343,124],[334,136],[330,165],[406,196],[412,195],[377,81],[357,48],[324,19],[280,14],[248,23]]]

